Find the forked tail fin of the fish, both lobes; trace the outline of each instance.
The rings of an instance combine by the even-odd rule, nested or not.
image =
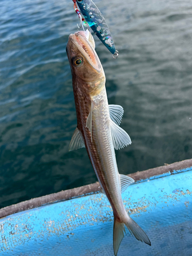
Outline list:
[[[130,230],[132,236],[134,236],[137,240],[139,240],[141,242],[145,242],[148,245],[151,245],[150,239],[148,239],[148,237],[145,234],[145,232],[143,231],[143,229],[134,220],[132,220],[132,218],[130,216],[126,223],[119,222],[114,217],[113,249],[114,249],[115,256],[117,256],[119,245],[124,237],[124,233],[123,233],[123,231],[125,231],[124,224]]]

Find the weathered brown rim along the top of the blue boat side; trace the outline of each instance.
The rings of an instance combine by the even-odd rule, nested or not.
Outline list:
[[[180,162],[175,162],[172,164],[166,164],[163,166],[143,170],[133,174],[129,174],[129,177],[137,182],[143,182],[146,180],[157,179],[164,176],[169,176],[181,172],[186,172],[192,169],[192,159],[183,160]],[[77,197],[87,196],[91,194],[96,194],[100,192],[99,182],[84,185],[81,187],[76,187],[68,190],[62,190],[57,193],[50,195],[32,198],[30,200],[6,206],[0,209],[0,218],[7,217],[12,214],[16,214],[20,211],[25,211],[42,205],[52,204],[60,201],[66,201]]]

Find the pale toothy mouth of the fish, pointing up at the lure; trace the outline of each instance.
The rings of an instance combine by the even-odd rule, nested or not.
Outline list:
[[[88,60],[90,65],[97,71],[101,71],[101,63],[95,52],[95,41],[93,36],[90,36],[89,30],[78,31],[75,34],[69,36],[69,40],[77,47],[82,55]]]

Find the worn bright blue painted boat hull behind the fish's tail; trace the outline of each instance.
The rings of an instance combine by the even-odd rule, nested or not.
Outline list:
[[[126,229],[118,256],[192,255],[192,167],[151,177],[122,194],[148,246]],[[17,212],[0,220],[1,255],[114,255],[113,212],[101,193]]]

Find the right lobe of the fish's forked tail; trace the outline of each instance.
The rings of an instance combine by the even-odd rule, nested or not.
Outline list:
[[[128,217],[129,218],[127,219],[125,225],[130,230],[132,236],[141,242],[151,245],[150,239],[148,239],[143,229],[129,215]]]

